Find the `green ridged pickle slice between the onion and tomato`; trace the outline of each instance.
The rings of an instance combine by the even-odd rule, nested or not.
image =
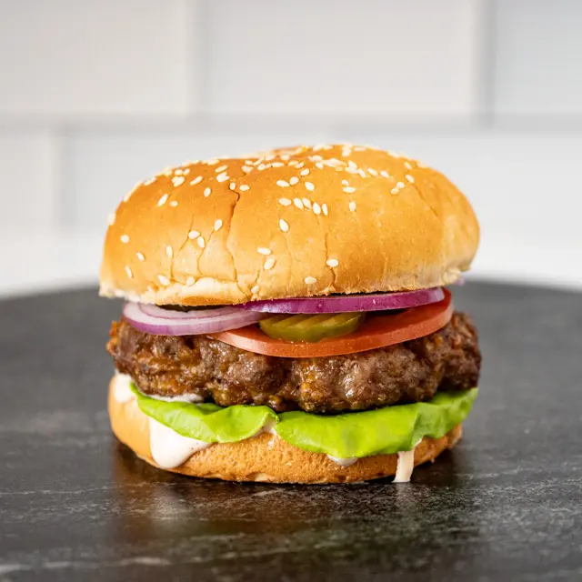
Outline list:
[[[327,313],[316,316],[277,315],[259,322],[259,327],[269,337],[289,342],[318,342],[326,337],[345,336],[364,321],[365,313]]]

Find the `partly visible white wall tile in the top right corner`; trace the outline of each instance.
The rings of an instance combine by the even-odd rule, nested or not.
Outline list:
[[[582,2],[496,0],[495,110],[582,115]]]

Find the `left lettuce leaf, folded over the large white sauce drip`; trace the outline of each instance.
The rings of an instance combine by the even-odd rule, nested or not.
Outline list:
[[[276,423],[276,413],[268,406],[218,406],[164,402],[142,394],[135,385],[132,390],[137,406],[147,416],[172,428],[183,437],[206,443],[232,443],[256,435],[269,423]]]

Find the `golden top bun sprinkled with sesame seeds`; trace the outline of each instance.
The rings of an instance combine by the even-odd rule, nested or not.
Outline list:
[[[204,306],[443,286],[478,238],[445,176],[373,147],[187,162],[110,216],[101,294]]]

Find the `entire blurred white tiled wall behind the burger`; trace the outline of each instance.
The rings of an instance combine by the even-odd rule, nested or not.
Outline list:
[[[0,0],[0,293],[95,282],[186,159],[386,146],[479,216],[476,276],[582,287],[578,0]]]

